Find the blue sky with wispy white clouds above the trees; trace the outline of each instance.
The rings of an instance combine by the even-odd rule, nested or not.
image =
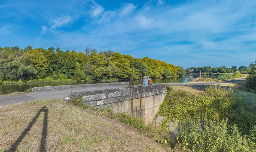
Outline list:
[[[112,50],[177,66],[248,66],[256,0],[0,0],[0,47]]]

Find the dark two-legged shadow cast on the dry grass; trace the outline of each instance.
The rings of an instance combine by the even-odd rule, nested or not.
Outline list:
[[[40,152],[46,152],[46,137],[47,137],[47,126],[48,126],[48,109],[46,106],[42,107],[40,111],[38,111],[37,115],[34,117],[34,119],[29,123],[27,128],[22,132],[21,136],[12,143],[12,146],[8,150],[8,152],[15,152],[18,148],[19,143],[23,140],[23,138],[27,135],[27,133],[30,131],[34,123],[37,121],[37,118],[40,116],[40,113],[44,112],[44,119],[43,119],[43,129],[42,129],[42,138],[40,141]]]

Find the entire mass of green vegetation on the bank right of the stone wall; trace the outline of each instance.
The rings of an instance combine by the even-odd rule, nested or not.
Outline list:
[[[169,87],[156,117],[165,117],[162,129],[174,127],[170,122],[180,124],[176,143],[184,151],[252,152],[256,150],[255,108],[255,100],[225,87],[206,86],[202,95]]]

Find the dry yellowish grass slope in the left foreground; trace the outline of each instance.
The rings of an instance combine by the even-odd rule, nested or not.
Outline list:
[[[96,116],[94,111],[90,113],[62,99],[1,106],[0,150],[12,147],[10,151],[16,148],[16,151],[29,152],[40,149],[49,152],[165,151],[155,140],[131,126],[117,119]]]

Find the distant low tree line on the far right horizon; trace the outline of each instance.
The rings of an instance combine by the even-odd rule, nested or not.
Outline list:
[[[250,68],[246,66],[240,66],[237,68],[236,66],[233,66],[231,68],[228,67],[190,67],[187,68],[187,70],[194,70],[192,73],[199,73],[201,70],[202,73],[234,73],[235,71],[239,71],[241,74],[249,74]]]

